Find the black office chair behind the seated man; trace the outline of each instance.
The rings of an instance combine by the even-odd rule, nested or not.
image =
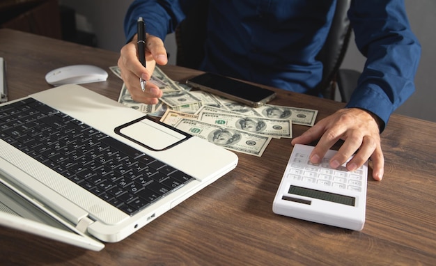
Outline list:
[[[338,88],[341,102],[350,100],[360,75],[355,70],[340,69],[352,31],[347,17],[350,1],[337,0],[332,26],[325,45],[317,56],[323,65],[322,81],[313,93],[335,100],[335,92]],[[204,57],[203,45],[206,38],[208,6],[209,1],[198,1],[176,29],[177,65],[199,68]]]

